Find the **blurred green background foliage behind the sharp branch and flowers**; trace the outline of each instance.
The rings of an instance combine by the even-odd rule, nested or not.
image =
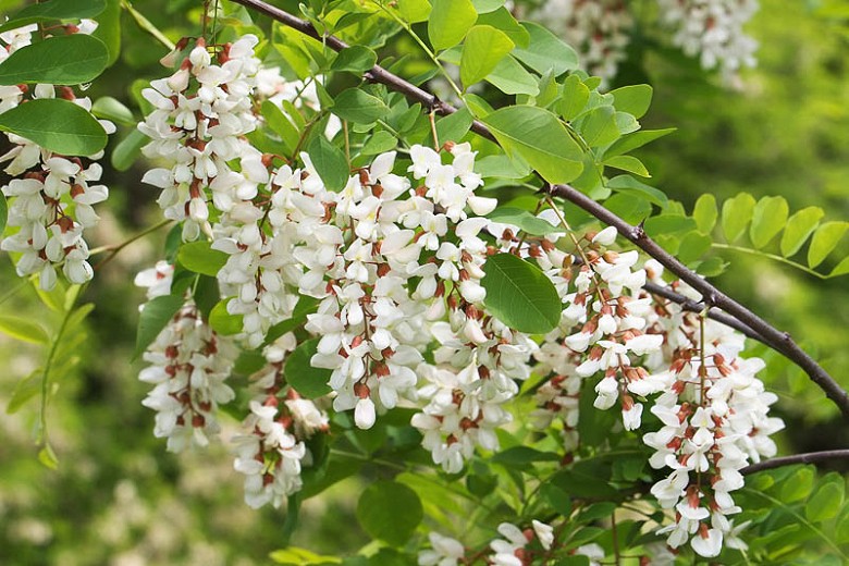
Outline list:
[[[0,13],[20,3],[0,0]],[[176,40],[197,34],[199,3],[139,0],[135,7]],[[846,22],[817,11],[820,2],[761,4],[748,28],[761,44],[759,66],[743,72],[734,88],[706,76],[696,61],[666,47],[651,22],[640,21],[639,39],[618,82],[650,82],[655,99],[644,127],[678,131],[638,156],[653,172],[653,184],[688,210],[703,193],[722,202],[749,192],[755,198],[782,195],[791,211],[821,206],[825,220],[845,220]],[[134,107],[133,81],[163,75],[157,60],[164,50],[126,13],[122,26],[122,59],[87,94],[109,94]],[[126,132],[122,128],[118,137]],[[155,190],[139,183],[144,171],[144,163],[125,173],[108,171],[112,196],[109,209],[98,210],[102,221],[93,246],[119,242],[158,220]],[[268,553],[281,545],[284,513],[254,512],[243,503],[241,476],[224,447],[177,457],[152,436],[152,411],[140,405],[148,387],[136,379],[140,364],[131,360],[143,300],[132,280],[158,259],[163,236],[130,246],[87,290],[85,298],[96,309],[79,352],[83,369],[59,384],[49,408],[59,469],[48,470],[36,459],[37,402],[0,416],[0,564],[249,565],[267,563]],[[789,331],[849,386],[849,278],[820,281],[770,260],[723,257],[731,268],[718,279],[719,286]],[[0,296],[16,283],[9,258],[0,257]],[[0,304],[2,312],[51,323],[29,288]],[[846,427],[807,377],[760,348],[753,352],[766,355],[764,381],[780,396],[776,410],[788,422],[783,450],[845,447]],[[0,406],[5,407],[17,380],[36,368],[44,352],[0,335]],[[236,423],[225,427],[226,439]],[[359,485],[342,482],[307,502],[294,542],[328,554],[367,543],[353,518]]]

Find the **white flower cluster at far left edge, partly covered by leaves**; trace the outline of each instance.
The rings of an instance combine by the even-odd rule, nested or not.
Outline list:
[[[90,34],[96,26],[94,21],[84,20],[78,26],[62,26],[62,32]],[[0,62],[30,45],[36,29],[33,24],[0,34]],[[38,84],[32,89],[26,85],[0,86],[0,112],[30,99],[57,96],[91,110],[91,100],[77,97],[71,87]],[[115,130],[111,122],[101,120],[100,124],[110,134]],[[97,184],[102,168],[94,160],[102,152],[87,159],[65,157],[15,134],[4,135],[12,149],[0,157],[0,162],[7,162],[3,171],[12,179],[0,190],[14,198],[8,223],[19,231],[3,239],[0,249],[21,254],[17,274],[37,274],[42,290],[56,285],[57,268],[61,268],[71,283],[89,281],[94,270],[88,263],[89,250],[83,232],[99,220],[93,205],[109,196],[108,188]]]

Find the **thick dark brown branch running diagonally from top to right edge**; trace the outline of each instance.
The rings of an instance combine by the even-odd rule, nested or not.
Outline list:
[[[309,37],[323,41],[324,45],[334,51],[341,51],[342,49],[348,47],[347,44],[337,37],[322,37],[322,35],[319,34],[309,22],[300,20],[299,17],[295,17],[292,14],[270,5],[261,0],[233,1],[262,13],[273,20],[276,20],[278,22],[292,27],[293,29],[296,29]],[[367,71],[364,76],[367,81],[385,85],[392,90],[403,94],[410,100],[422,103],[428,109],[433,110],[441,115],[452,114],[457,111],[456,108],[448,104],[447,102],[441,101],[434,95],[422,90],[421,88],[413,85],[402,77],[386,71],[380,65],[372,66],[371,70]],[[490,132],[487,125],[482,122],[477,120],[473,121],[471,124],[471,131],[497,144],[497,140],[492,135],[492,132]],[[811,378],[811,380],[825,392],[826,396],[838,406],[844,417],[849,419],[849,393],[847,393],[811,356],[802,350],[802,348],[796,344],[792,337],[790,337],[790,334],[779,331],[760,318],[758,315],[740,305],[728,295],[724,294],[716,286],[701,278],[698,273],[688,269],[687,266],[678,261],[677,258],[675,258],[673,255],[659,246],[653,239],[651,239],[641,226],[632,226],[618,216],[604,208],[599,202],[589,198],[577,188],[569,185],[553,185],[549,187],[547,192],[552,196],[570,201],[596,219],[601,220],[605,224],[614,226],[622,236],[633,243],[649,256],[660,261],[661,264],[663,264],[670,272],[675,273],[681,281],[686,282],[696,291],[698,291],[702,297],[704,297],[705,305],[715,306],[724,310],[727,316],[736,319],[738,322],[742,323],[745,327],[751,330],[754,334],[752,337],[755,337],[756,335],[758,337],[755,337],[755,340],[760,340],[802,368]],[[747,333],[747,335],[750,334]]]

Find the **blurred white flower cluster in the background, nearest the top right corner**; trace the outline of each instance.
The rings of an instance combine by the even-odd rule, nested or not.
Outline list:
[[[758,42],[743,26],[758,12],[758,0],[657,0],[663,21],[675,34],[673,44],[704,69],[718,69],[726,77],[754,66]]]

